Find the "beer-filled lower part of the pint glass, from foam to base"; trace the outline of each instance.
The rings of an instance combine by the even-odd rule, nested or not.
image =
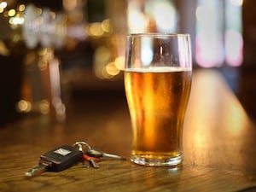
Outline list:
[[[183,119],[191,74],[183,67],[125,70],[125,94],[133,131],[131,161],[172,166],[183,160]]]

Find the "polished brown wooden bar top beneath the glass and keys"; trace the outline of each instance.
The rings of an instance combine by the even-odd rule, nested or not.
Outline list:
[[[124,95],[77,96],[67,120],[29,116],[0,128],[0,191],[253,191],[256,190],[256,126],[222,76],[194,72],[183,130],[185,160],[177,169],[145,167],[129,160],[80,164],[26,179],[40,154],[86,141],[129,157],[131,123]]]

